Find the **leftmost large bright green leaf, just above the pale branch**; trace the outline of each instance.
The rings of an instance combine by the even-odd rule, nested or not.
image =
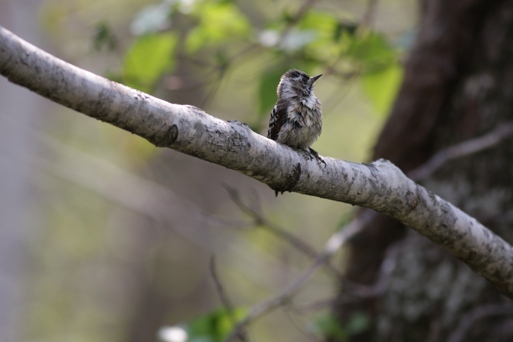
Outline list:
[[[172,32],[137,38],[125,56],[122,72],[124,83],[146,92],[151,90],[163,73],[174,68],[176,41]]]

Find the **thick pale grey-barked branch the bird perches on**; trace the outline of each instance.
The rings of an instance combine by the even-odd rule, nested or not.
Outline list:
[[[239,122],[169,104],[72,66],[0,27],[0,73],[57,103],[260,180],[272,189],[338,200],[390,215],[427,236],[513,298],[513,248],[387,160],[326,167]]]

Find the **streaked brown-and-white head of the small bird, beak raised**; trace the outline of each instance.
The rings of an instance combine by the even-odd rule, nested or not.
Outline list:
[[[303,71],[290,69],[283,74],[278,85],[278,97],[308,97],[313,95],[313,84],[321,75],[310,77]]]

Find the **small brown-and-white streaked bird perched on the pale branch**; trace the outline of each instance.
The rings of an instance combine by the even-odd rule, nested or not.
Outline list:
[[[324,163],[326,167],[319,153],[310,148],[322,132],[321,102],[313,94],[313,84],[321,76],[310,77],[303,71],[290,69],[281,77],[278,101],[271,112],[267,137],[310,152],[319,164]]]

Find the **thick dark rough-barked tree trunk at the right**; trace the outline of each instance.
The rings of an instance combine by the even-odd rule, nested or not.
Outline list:
[[[404,83],[373,156],[405,173],[437,150],[513,119],[513,3],[425,0],[422,10]],[[513,242],[511,140],[449,162],[422,184]],[[354,283],[383,277],[383,261],[390,272],[383,291],[351,295]],[[352,239],[346,274],[334,313],[343,325],[362,311],[372,322],[351,341],[513,340],[510,299],[389,217],[377,215]]]

